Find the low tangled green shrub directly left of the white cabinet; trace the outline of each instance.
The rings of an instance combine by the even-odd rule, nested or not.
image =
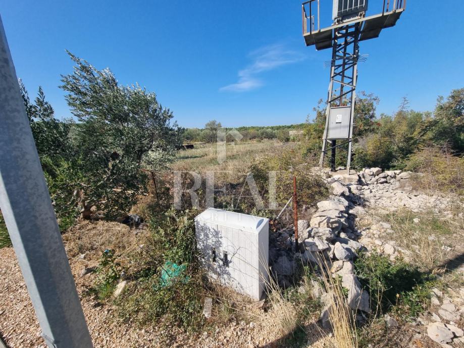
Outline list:
[[[119,316],[140,324],[161,322],[195,330],[203,323],[204,281],[196,254],[195,210],[154,212],[151,236],[133,255],[138,271],[129,275],[134,284],[116,301]],[[169,264],[181,272],[163,280]]]

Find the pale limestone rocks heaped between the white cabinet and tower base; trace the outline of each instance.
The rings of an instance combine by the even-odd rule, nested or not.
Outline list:
[[[366,251],[366,247],[388,255],[392,260],[399,254],[407,257],[407,251],[394,241],[379,239],[380,235],[388,236],[394,233],[392,226],[386,222],[373,221],[370,227],[361,230],[356,228],[355,219],[370,218],[364,206],[371,205],[376,209],[382,207],[385,211],[402,206],[412,210],[432,208],[443,213],[442,208],[450,204],[449,198],[430,197],[412,191],[408,185],[410,178],[412,178],[411,172],[401,170],[383,172],[381,168],[366,168],[358,173],[350,172],[343,175],[327,175],[325,181],[330,185],[332,195],[328,200],[317,204],[317,211],[309,221],[298,221],[299,250],[294,249],[295,239],[292,228],[271,234],[271,270],[277,274],[279,284],[290,285],[290,278],[296,269],[295,265],[300,264],[301,261],[315,265],[324,263],[334,277],[341,277],[342,286],[348,290],[348,303],[351,309],[359,310],[360,317],[363,316],[363,312],[369,313],[369,294],[362,288],[354,274],[353,259],[360,251]],[[324,296],[321,299],[324,302]],[[443,318],[449,312],[445,313],[447,309],[451,308],[441,308],[443,313],[440,315]],[[322,311],[323,324],[327,323],[327,311],[326,303]],[[393,322],[394,319],[391,318],[390,321]],[[452,325],[452,322],[449,325]],[[442,327],[438,330],[444,331]],[[454,332],[453,335],[456,333]]]

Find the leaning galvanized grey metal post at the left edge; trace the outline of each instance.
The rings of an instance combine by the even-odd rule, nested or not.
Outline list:
[[[42,336],[50,348],[90,348],[1,18],[0,125],[0,209]]]

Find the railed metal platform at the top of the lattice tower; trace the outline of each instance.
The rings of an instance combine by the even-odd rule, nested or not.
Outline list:
[[[312,4],[317,1],[317,11],[314,11]],[[306,46],[315,45],[317,50],[330,48],[332,47],[333,40],[335,37],[335,31],[338,28],[341,28],[346,25],[345,22],[333,24],[327,28],[320,28],[319,21],[319,1],[320,0],[310,0],[302,4],[301,13],[303,18],[303,37],[306,42]],[[393,9],[389,10],[390,1],[385,0],[383,5],[383,11],[380,14],[368,16],[368,17],[359,17],[357,19],[350,20],[350,24],[359,23],[359,41],[372,39],[379,37],[382,29],[393,27],[396,24],[396,21],[399,19],[403,13],[406,1],[398,0],[394,1]],[[308,5],[308,6],[307,6]],[[307,10],[306,10],[307,7]],[[315,27],[315,16],[317,15],[317,27]],[[309,28],[308,28],[309,24]]]

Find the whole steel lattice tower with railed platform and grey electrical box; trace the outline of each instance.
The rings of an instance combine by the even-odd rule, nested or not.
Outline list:
[[[317,50],[332,47],[326,124],[319,165],[323,166],[330,150],[331,169],[335,170],[336,149],[348,144],[346,167],[349,173],[357,63],[360,61],[358,43],[378,37],[382,29],[393,27],[406,7],[406,0],[383,0],[381,13],[367,17],[368,0],[333,0],[333,23],[323,29],[320,27],[320,2],[323,0],[306,1],[301,11],[306,46],[315,45]],[[369,0],[370,4],[373,2],[380,5],[382,0]],[[315,4],[317,8],[313,9]]]

